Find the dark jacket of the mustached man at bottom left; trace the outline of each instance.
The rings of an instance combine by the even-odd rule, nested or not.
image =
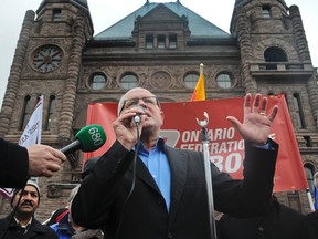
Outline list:
[[[7,230],[6,237],[3,239],[59,239],[54,230],[47,226],[42,225],[34,217],[28,229],[28,232],[23,236],[24,229],[21,228],[12,218],[8,227],[9,220],[11,219],[11,214],[0,220],[0,238],[2,239],[3,233]]]

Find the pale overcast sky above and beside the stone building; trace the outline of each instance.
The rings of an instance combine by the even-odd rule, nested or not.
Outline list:
[[[0,14],[0,107],[7,87],[22,21],[26,10],[36,10],[42,0],[9,0]],[[132,11],[139,9],[146,0],[88,0],[94,24],[94,34],[113,25]],[[176,2],[176,0],[149,0],[149,2]],[[229,32],[235,0],[180,0],[187,8],[203,17],[222,30]],[[287,6],[299,7],[311,60],[318,67],[318,0],[285,0]]]

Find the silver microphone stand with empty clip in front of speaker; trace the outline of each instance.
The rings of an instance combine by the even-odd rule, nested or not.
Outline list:
[[[199,121],[198,124],[201,126],[202,132],[202,146],[203,146],[203,159],[204,159],[204,173],[206,181],[206,193],[208,193],[208,208],[209,208],[209,222],[210,222],[210,233],[211,239],[216,239],[216,226],[214,218],[214,201],[213,201],[213,188],[212,188],[212,174],[211,174],[211,162],[209,156],[209,136],[206,131],[206,125],[209,123],[209,115],[204,112],[204,121]]]

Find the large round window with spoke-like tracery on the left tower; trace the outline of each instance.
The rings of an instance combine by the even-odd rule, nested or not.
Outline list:
[[[62,50],[56,45],[43,45],[33,54],[33,66],[43,73],[55,70],[62,61]]]

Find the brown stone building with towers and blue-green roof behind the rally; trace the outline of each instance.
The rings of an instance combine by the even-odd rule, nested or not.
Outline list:
[[[304,167],[312,180],[318,170],[317,70],[298,7],[284,0],[236,0],[231,33],[199,14],[179,0],[147,0],[94,35],[86,0],[43,0],[23,20],[0,136],[18,142],[43,94],[42,143],[61,148],[85,126],[89,103],[118,102],[132,86],[149,89],[162,102],[189,101],[204,63],[206,98],[285,94]],[[42,220],[64,206],[81,180],[82,153],[68,158],[62,172],[39,178]],[[309,211],[306,191],[278,196],[284,204]],[[0,199],[0,217],[8,214],[6,200]]]

